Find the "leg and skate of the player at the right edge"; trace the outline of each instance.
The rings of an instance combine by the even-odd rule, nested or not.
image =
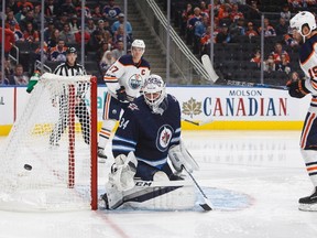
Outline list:
[[[314,186],[311,195],[299,198],[299,209],[317,210],[317,115],[308,112],[305,119],[300,152]]]

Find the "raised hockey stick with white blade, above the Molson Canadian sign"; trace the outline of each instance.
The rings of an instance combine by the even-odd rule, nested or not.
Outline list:
[[[201,63],[209,75],[209,79],[216,83],[219,76],[216,74],[214,66],[211,65],[209,55],[204,54],[201,56]],[[288,90],[287,86],[276,86],[276,85],[258,84],[251,82],[226,80],[226,79],[225,82],[226,85],[232,85],[232,86],[262,87],[262,88]]]

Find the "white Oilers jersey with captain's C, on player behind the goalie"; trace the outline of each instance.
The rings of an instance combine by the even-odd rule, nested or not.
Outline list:
[[[142,57],[135,64],[132,55],[123,55],[107,71],[103,80],[109,93],[116,97],[116,90],[124,86],[128,98],[139,96],[144,79],[150,75],[150,64]]]

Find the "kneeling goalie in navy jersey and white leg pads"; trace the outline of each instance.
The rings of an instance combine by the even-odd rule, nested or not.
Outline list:
[[[125,108],[112,140],[112,153],[114,164],[103,195],[108,208],[125,202],[152,208],[194,206],[193,183],[179,173],[183,166],[193,172],[198,165],[181,141],[179,104],[165,93],[158,75],[150,75],[143,96]],[[167,155],[177,174],[167,163]],[[181,194],[182,201],[177,202]]]

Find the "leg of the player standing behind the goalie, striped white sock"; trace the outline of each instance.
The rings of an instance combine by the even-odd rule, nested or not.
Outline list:
[[[107,94],[102,116],[103,121],[98,136],[98,156],[101,159],[107,159],[103,151],[110,140],[116,122],[119,120],[121,107],[120,101]]]

